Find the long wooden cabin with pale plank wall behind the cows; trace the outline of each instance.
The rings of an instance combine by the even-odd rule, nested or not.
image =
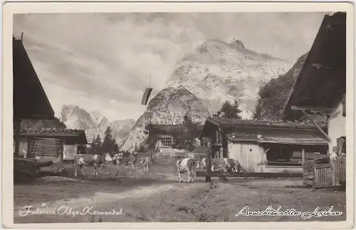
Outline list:
[[[328,140],[310,122],[209,117],[199,138],[211,142],[214,158],[238,160],[247,172],[301,172],[306,157],[328,152]]]

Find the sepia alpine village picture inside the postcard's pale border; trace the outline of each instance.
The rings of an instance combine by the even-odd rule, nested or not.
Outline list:
[[[350,223],[348,14],[13,14],[14,224]]]

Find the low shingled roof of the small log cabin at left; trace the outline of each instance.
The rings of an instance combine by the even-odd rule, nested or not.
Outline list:
[[[14,130],[16,132],[16,130]],[[21,129],[20,136],[33,137],[75,137],[81,144],[87,144],[85,130],[70,130],[70,129]]]

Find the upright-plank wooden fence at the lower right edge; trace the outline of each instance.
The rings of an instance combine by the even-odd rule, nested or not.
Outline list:
[[[333,177],[335,177],[333,181]],[[345,186],[346,157],[337,157],[334,170],[330,167],[329,157],[308,160],[303,164],[303,184],[313,188]]]

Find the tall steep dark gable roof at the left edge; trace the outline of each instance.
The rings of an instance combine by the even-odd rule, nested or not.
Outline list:
[[[21,40],[13,37],[14,120],[54,120],[54,112]]]

